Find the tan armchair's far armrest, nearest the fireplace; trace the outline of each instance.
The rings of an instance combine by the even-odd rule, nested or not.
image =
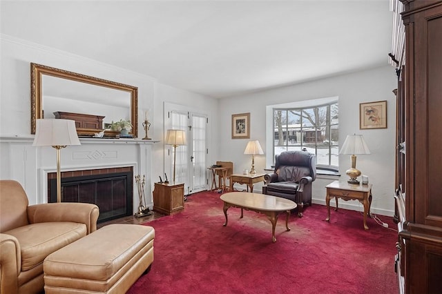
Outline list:
[[[87,233],[97,231],[98,206],[89,203],[46,203],[28,206],[31,224],[39,222],[77,222],[86,224]]]

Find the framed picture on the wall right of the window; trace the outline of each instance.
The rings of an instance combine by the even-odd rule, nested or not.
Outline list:
[[[359,104],[359,128],[387,128],[387,101]]]

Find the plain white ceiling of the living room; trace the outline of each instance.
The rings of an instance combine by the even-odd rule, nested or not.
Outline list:
[[[383,66],[391,50],[388,0],[1,0],[0,12],[2,34],[212,97]]]

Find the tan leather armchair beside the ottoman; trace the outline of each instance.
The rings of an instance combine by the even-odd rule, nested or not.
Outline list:
[[[0,293],[41,293],[46,256],[97,230],[95,204],[28,203],[18,182],[0,180]]]

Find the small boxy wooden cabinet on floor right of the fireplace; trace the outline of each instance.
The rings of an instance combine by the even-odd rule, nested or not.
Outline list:
[[[155,183],[153,210],[171,215],[184,209],[184,184]]]

